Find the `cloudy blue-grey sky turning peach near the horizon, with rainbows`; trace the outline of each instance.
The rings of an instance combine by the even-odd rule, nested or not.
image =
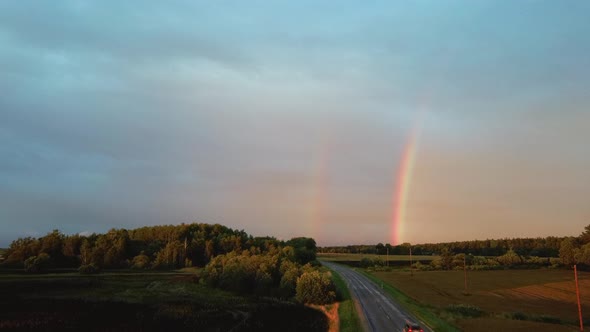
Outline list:
[[[321,246],[578,235],[589,11],[2,1],[0,247],[191,222]]]

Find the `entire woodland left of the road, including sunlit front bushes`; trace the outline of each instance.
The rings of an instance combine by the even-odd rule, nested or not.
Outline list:
[[[316,251],[312,238],[279,241],[219,224],[111,229],[89,236],[54,230],[40,238],[13,241],[2,267],[29,273],[77,268],[82,274],[200,267],[198,281],[215,288],[330,303],[336,297],[334,285],[330,272],[317,263]]]

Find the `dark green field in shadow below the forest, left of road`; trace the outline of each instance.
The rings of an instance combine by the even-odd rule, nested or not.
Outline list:
[[[211,289],[191,272],[0,274],[0,330],[326,331],[288,301]]]

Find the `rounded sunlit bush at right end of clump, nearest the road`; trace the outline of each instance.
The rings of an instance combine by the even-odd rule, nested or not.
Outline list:
[[[336,300],[336,287],[330,272],[304,272],[297,278],[295,298],[301,303],[327,304]]]

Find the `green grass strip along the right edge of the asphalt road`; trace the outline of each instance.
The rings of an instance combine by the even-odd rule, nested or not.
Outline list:
[[[433,311],[432,308],[424,306],[412,298],[408,297],[406,294],[402,293],[395,287],[383,282],[381,279],[377,278],[376,276],[366,272],[363,269],[358,269],[359,272],[364,274],[367,278],[371,279],[378,285],[381,285],[382,288],[391,296],[393,297],[397,303],[401,304],[404,309],[411,312],[420,319],[422,322],[426,323],[430,328],[435,331],[459,331],[455,326],[449,324],[445,320],[438,317]]]

